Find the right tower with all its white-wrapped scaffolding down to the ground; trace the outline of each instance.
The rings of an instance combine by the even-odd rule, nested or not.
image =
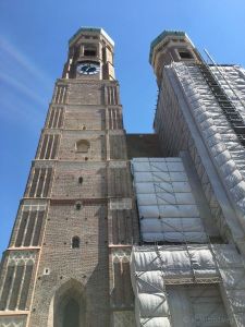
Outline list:
[[[245,327],[245,71],[207,64],[176,31],[151,43],[149,60],[168,158],[132,160],[137,326]]]

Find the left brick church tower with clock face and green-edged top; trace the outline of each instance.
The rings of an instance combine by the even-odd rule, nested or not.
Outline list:
[[[135,213],[113,41],[81,28],[3,255],[0,326],[131,326]]]

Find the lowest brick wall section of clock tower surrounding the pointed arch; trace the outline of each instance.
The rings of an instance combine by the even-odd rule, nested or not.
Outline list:
[[[79,249],[71,247],[76,235]],[[49,275],[44,275],[45,270]],[[107,206],[51,205],[38,268],[30,326],[47,326],[53,289],[70,279],[81,281],[86,299],[86,326],[108,326]],[[32,323],[33,322],[33,323]]]

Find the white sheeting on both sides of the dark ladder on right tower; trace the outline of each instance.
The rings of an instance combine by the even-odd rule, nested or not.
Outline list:
[[[237,218],[245,230],[245,148],[223,114],[223,110],[204,80],[197,65],[174,63],[171,71],[177,77],[192,114],[203,135],[224,189],[234,204]],[[218,83],[236,110],[245,119],[244,70],[236,66],[210,68]],[[243,90],[242,90],[243,89]],[[235,217],[233,217],[235,220]],[[232,221],[229,223],[232,226]],[[235,225],[234,225],[235,228]],[[241,242],[244,242],[241,240]]]

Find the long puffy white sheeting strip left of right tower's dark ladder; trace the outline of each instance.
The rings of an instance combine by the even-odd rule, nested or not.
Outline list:
[[[232,125],[210,90],[210,84],[200,72],[198,64],[173,63],[171,70],[182,88],[184,99],[196,126],[209,150],[210,158],[218,168],[224,189],[234,204],[235,219],[233,227],[238,222],[241,231],[245,230],[245,149],[241,144]],[[209,82],[213,80],[210,77]],[[244,81],[245,82],[245,81]],[[217,83],[216,83],[217,84]],[[181,96],[181,94],[180,94]],[[221,102],[228,104],[221,97]],[[228,100],[229,101],[229,100]],[[230,105],[229,105],[230,106]],[[233,104],[232,104],[233,106]],[[240,240],[240,242],[244,242]]]

